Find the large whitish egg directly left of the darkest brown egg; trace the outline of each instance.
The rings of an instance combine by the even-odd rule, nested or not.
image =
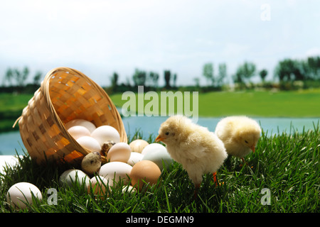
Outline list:
[[[119,182],[122,179],[124,184],[127,184],[131,170],[132,166],[127,163],[107,162],[100,168],[99,175],[109,179],[111,182]]]

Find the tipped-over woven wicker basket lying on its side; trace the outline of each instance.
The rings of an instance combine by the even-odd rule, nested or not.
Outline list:
[[[38,164],[53,160],[79,165],[90,151],[82,148],[64,126],[77,118],[91,121],[97,127],[116,128],[120,140],[127,143],[122,118],[105,90],[77,70],[58,67],[46,74],[17,120],[31,158]]]

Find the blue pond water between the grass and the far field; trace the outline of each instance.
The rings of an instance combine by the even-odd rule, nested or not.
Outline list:
[[[124,127],[129,136],[139,130],[142,133],[143,138],[149,138],[152,134],[156,137],[159,127],[167,117],[128,117],[123,118]],[[274,133],[292,133],[293,131],[302,132],[309,129],[314,130],[314,125],[320,121],[320,118],[254,118],[263,131],[267,132],[267,135],[273,135]],[[198,118],[198,124],[207,127],[210,131],[215,131],[220,118]],[[16,155],[16,151],[19,155],[23,155],[23,150],[26,149],[23,146],[20,133],[18,131],[9,133],[0,133],[0,155]]]

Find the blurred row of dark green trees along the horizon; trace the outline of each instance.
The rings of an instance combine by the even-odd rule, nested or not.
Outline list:
[[[273,74],[271,81],[266,81],[268,74]],[[33,82],[26,84],[30,76],[28,67],[22,70],[18,68],[8,68],[1,86],[1,92],[34,92],[40,86],[43,74],[36,72],[33,75]],[[164,85],[159,86],[160,76],[164,77]],[[234,74],[230,74],[234,89],[254,89],[262,87],[265,89],[301,89],[309,87],[320,87],[320,56],[307,57],[302,60],[286,58],[280,60],[274,68],[274,72],[266,69],[257,69],[254,62],[243,62],[237,67]],[[201,76],[194,77],[194,84],[186,87],[179,87],[177,82],[178,74],[171,70],[159,72],[146,72],[145,70],[135,69],[132,78],[127,78],[126,82],[119,83],[119,74],[113,72],[110,78],[110,86],[105,87],[107,92],[117,93],[133,91],[137,92],[138,86],[144,86],[144,90],[161,89],[186,89],[197,90],[200,92],[219,91],[230,88],[228,70],[226,63],[218,64],[218,72],[215,72],[213,62],[203,65]],[[253,83],[252,78],[260,77],[260,83]],[[200,79],[206,80],[206,85],[201,86]]]

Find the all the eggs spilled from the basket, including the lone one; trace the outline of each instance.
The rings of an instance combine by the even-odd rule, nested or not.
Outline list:
[[[75,119],[66,123],[65,128],[90,153],[82,159],[80,170],[70,169],[60,175],[61,185],[72,187],[78,182],[85,184],[88,193],[93,190],[94,194],[102,195],[106,187],[122,181],[123,192],[134,192],[144,184],[156,184],[164,167],[173,162],[164,145],[141,139],[129,144],[120,142],[120,135],[112,126],[96,127],[90,121]],[[101,155],[107,159],[105,164]],[[42,199],[35,185],[21,182],[9,189],[6,199],[12,206],[23,209],[26,202],[32,203],[31,193]]]

